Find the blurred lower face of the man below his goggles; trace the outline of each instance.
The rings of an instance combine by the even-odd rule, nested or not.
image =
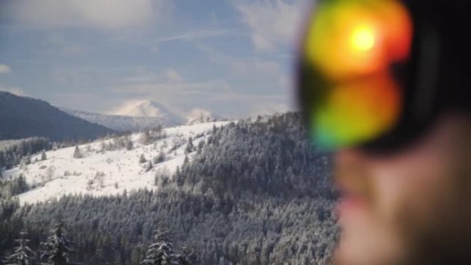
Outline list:
[[[447,116],[390,156],[342,150],[338,265],[471,264],[471,126]]]

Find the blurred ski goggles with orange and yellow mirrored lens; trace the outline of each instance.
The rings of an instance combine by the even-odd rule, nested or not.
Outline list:
[[[430,111],[410,117],[410,102],[430,87],[436,64],[419,59],[438,52],[433,45],[421,48],[430,41],[416,37],[401,1],[318,1],[300,50],[297,85],[317,147],[380,149],[419,131],[418,121]],[[430,71],[417,70],[420,63],[430,63]]]

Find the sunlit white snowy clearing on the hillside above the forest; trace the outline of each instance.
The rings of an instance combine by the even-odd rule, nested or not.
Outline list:
[[[31,157],[30,165],[20,165],[3,172],[3,178],[23,174],[35,188],[18,195],[21,203],[47,201],[67,194],[112,195],[137,189],[155,189],[156,173],[173,173],[185,160],[189,137],[196,147],[208,138],[213,126],[229,122],[200,123],[169,127],[154,135],[139,133],[107,140],[97,140]],[[150,140],[149,140],[150,139]],[[157,140],[152,140],[157,139]],[[74,154],[76,157],[74,158]],[[162,155],[164,154],[164,155]],[[163,161],[160,161],[163,158]],[[142,158],[143,157],[143,158]],[[145,160],[146,162],[143,162]]]

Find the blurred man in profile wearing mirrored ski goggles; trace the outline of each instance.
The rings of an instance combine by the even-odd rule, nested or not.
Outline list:
[[[300,56],[339,265],[471,264],[468,1],[318,1]]]

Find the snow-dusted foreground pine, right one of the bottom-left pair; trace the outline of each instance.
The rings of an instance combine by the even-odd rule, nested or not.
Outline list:
[[[68,265],[70,261],[70,253],[72,252],[71,243],[65,238],[63,224],[59,223],[56,228],[51,231],[50,237],[46,242],[41,242],[43,251],[41,259],[46,259],[44,265]]]

